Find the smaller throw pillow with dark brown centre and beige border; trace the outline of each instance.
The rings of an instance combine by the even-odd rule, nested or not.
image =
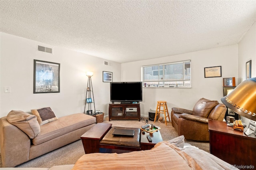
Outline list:
[[[36,116],[39,125],[58,120],[54,112],[50,107],[44,107],[42,109],[33,109],[31,113]]]

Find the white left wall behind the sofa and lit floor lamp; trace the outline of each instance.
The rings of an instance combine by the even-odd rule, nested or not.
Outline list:
[[[0,117],[11,110],[30,112],[51,107],[57,117],[83,113],[88,77],[93,71],[92,86],[96,110],[108,114],[110,83],[102,82],[102,71],[113,72],[113,81],[121,80],[121,64],[103,65],[101,58],[52,47],[47,44],[1,33],[0,40]],[[37,51],[37,45],[53,48],[53,54]],[[34,59],[60,63],[60,93],[33,93]],[[11,93],[4,93],[10,87]]]

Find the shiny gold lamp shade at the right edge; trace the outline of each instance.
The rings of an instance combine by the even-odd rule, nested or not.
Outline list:
[[[256,121],[256,77],[240,83],[228,95],[222,97],[221,101],[232,111]]]

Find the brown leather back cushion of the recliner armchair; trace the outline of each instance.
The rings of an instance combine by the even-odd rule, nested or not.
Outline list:
[[[212,109],[218,104],[218,101],[212,101],[204,98],[199,99],[193,108],[192,115],[207,118]]]

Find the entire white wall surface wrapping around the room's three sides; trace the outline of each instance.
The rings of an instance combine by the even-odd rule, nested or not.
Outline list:
[[[180,55],[161,57],[130,63],[104,66],[103,59],[75,51],[53,47],[54,54],[37,51],[36,41],[1,33],[0,40],[0,117],[10,110],[50,106],[58,117],[84,111],[86,71],[92,77],[96,109],[108,113],[110,102],[109,83],[102,82],[102,71],[113,72],[113,81],[141,81],[142,65],[168,63],[191,59],[191,89],[143,89],[141,114],[155,110],[156,101],[166,100],[172,107],[192,109],[201,97],[218,100],[223,95],[222,79],[236,77],[236,85],[245,79],[245,63],[252,59],[252,77],[256,77],[256,28],[255,24],[238,45],[218,47]],[[45,45],[51,47],[50,45]],[[33,94],[33,60],[60,63],[60,93]],[[204,78],[204,67],[222,66],[222,77]],[[121,79],[122,77],[122,79]],[[11,93],[4,93],[10,86]]]

